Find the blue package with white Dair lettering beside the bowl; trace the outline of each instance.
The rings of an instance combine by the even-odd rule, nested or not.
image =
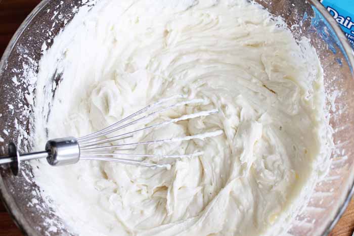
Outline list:
[[[354,1],[321,0],[321,3],[341,26],[354,49]]]

